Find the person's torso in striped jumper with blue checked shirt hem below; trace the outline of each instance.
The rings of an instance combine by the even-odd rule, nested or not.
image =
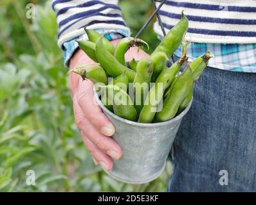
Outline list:
[[[256,0],[167,0],[160,10],[166,31],[183,10],[189,20],[185,39],[194,43],[188,47],[190,60],[211,51],[210,67],[256,72]],[[154,30],[163,37],[158,22]],[[180,52],[181,47],[175,54]]]

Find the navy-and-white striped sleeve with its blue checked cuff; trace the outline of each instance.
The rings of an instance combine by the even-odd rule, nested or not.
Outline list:
[[[57,13],[58,45],[64,50],[66,66],[78,47],[75,40],[87,40],[84,27],[107,35],[109,40],[130,36],[118,0],[53,0],[52,8]]]

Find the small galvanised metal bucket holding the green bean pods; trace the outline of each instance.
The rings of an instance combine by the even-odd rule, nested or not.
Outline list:
[[[122,158],[114,160],[109,176],[131,184],[156,179],[165,169],[172,143],[188,107],[174,119],[160,123],[138,123],[122,119],[105,108],[97,94],[95,100],[113,123],[113,139],[122,149]]]

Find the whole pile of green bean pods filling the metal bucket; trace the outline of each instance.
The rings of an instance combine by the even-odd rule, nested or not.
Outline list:
[[[114,47],[96,31],[85,28],[89,40],[79,41],[78,45],[95,63],[81,65],[71,71],[83,79],[104,85],[101,86],[104,88],[101,95],[103,104],[123,119],[141,123],[170,120],[187,108],[193,97],[194,83],[212,57],[210,52],[206,52],[188,63],[187,42],[184,40],[187,29],[188,19],[182,13],[179,22],[149,58],[138,62],[133,59],[127,63],[126,51],[132,46],[142,48],[146,42],[138,38],[122,38]],[[180,44],[183,47],[181,57],[165,69]],[[185,67],[183,72],[180,72],[181,67]],[[113,79],[108,81],[108,78]],[[128,94],[131,83],[133,96]]]

